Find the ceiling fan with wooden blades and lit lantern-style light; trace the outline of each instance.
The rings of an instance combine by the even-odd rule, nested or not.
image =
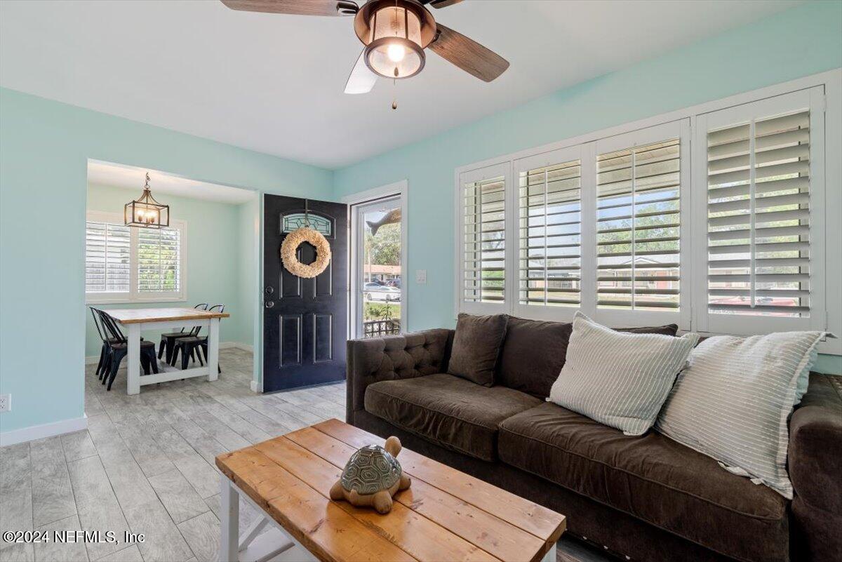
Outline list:
[[[354,31],[365,49],[345,84],[345,93],[367,93],[378,77],[408,78],[424,69],[424,49],[491,82],[509,61],[465,35],[439,24],[427,6],[447,8],[461,0],[221,0],[246,12],[308,16],[354,16]]]

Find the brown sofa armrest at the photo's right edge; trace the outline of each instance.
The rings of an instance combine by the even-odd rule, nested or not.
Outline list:
[[[842,378],[810,374],[790,420],[792,548],[797,559],[842,559]]]

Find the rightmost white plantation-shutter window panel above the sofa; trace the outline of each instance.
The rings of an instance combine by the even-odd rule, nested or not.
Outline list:
[[[706,329],[808,329],[821,268],[823,119],[810,90],[704,116]],[[821,112],[816,112],[821,114]],[[818,151],[816,146],[818,143]],[[818,223],[818,224],[817,224]],[[763,326],[760,326],[760,324]],[[771,327],[775,326],[775,327]]]

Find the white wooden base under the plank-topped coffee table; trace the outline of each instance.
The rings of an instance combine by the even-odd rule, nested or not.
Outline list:
[[[220,475],[220,492],[220,562],[317,562],[315,556],[271,517],[259,518],[240,534],[240,496],[258,513],[265,512],[226,475]],[[269,531],[263,533],[267,526]]]

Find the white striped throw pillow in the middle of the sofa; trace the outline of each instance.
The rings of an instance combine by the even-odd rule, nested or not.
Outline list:
[[[614,331],[577,312],[562,373],[547,400],[626,435],[642,435],[698,341],[698,334]]]

